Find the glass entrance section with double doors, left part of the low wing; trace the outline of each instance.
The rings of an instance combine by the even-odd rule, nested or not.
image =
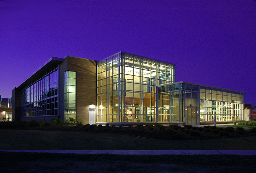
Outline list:
[[[198,123],[198,90],[198,85],[185,83],[158,87],[158,121]]]

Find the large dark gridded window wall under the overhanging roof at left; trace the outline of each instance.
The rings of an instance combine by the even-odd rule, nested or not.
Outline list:
[[[21,90],[21,117],[58,115],[58,65]]]

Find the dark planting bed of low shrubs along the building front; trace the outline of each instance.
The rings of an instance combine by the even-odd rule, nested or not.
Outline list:
[[[55,120],[53,120],[55,122]],[[128,134],[144,138],[161,139],[161,140],[205,140],[205,139],[220,139],[220,138],[239,138],[256,136],[256,128],[244,130],[243,127],[217,127],[204,126],[195,127],[185,125],[185,127],[170,125],[137,125],[137,126],[106,126],[102,125],[83,125],[82,122],[77,123],[51,123],[44,122],[40,124],[31,122],[0,122],[1,129],[21,129],[21,130],[47,130],[47,131],[77,131],[87,133],[116,133]]]

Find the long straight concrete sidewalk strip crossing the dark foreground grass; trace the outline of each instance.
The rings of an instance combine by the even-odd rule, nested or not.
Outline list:
[[[37,152],[66,154],[115,155],[256,155],[256,150],[0,150],[4,152]]]

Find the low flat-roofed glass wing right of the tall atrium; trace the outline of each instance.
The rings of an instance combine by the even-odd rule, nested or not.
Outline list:
[[[158,121],[196,125],[244,120],[244,92],[177,82],[158,86]]]

